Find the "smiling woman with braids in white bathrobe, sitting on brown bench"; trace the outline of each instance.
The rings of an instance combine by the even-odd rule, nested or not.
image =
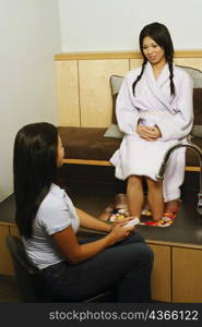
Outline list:
[[[140,34],[140,49],[142,66],[127,74],[117,98],[117,120],[126,135],[110,161],[116,167],[116,177],[128,179],[130,214],[141,216],[142,177],[145,177],[148,205],[153,219],[158,220],[165,203],[169,208],[180,199],[185,148],[171,155],[164,182],[156,180],[156,173],[166,150],[176,143],[187,142],[193,122],[193,83],[173,63],[174,46],[165,25],[146,25]]]

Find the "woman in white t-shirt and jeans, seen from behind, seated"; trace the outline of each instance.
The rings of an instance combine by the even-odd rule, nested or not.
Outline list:
[[[153,252],[143,238],[73,206],[56,183],[64,150],[50,123],[22,128],[14,143],[16,223],[31,262],[41,269],[54,294],[81,302],[116,288],[118,302],[150,302]],[[79,227],[106,232],[79,241]]]

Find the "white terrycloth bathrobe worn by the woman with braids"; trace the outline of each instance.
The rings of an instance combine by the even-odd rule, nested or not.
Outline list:
[[[121,180],[132,174],[156,180],[166,150],[176,143],[187,142],[193,123],[193,82],[186,71],[174,65],[174,96],[170,95],[168,64],[156,80],[147,62],[133,96],[132,84],[140,72],[141,68],[127,74],[117,97],[117,121],[126,135],[110,161],[116,167],[116,177]],[[141,138],[136,133],[138,123],[158,126],[162,137],[154,142]],[[179,148],[170,156],[163,183],[165,202],[180,197],[185,154],[186,149]]]

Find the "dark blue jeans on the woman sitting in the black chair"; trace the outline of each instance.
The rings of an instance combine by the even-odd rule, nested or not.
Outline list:
[[[68,299],[67,302],[82,302],[115,287],[118,302],[141,303],[151,302],[152,267],[153,251],[135,232],[81,264],[64,261],[43,271],[54,293]]]

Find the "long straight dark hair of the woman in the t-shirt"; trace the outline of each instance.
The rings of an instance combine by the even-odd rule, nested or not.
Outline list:
[[[50,123],[27,124],[16,134],[13,156],[15,219],[25,238],[32,237],[33,219],[56,181],[57,146],[58,131]]]

